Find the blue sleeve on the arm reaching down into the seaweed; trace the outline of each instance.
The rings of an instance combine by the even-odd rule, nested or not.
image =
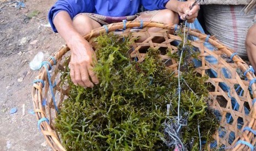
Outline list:
[[[52,30],[57,32],[53,19],[59,11],[67,11],[70,18],[73,19],[79,13],[92,13],[94,11],[94,1],[91,0],[58,0],[48,13],[48,20]]]

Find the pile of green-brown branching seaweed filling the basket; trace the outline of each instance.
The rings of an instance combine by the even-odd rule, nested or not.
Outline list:
[[[218,123],[206,104],[207,77],[197,76],[188,63],[188,56],[195,55],[189,45],[182,61],[182,125],[177,127],[178,79],[160,61],[160,51],[148,49],[138,63],[129,57],[129,37],[120,40],[108,34],[96,41],[94,71],[100,84],[88,89],[75,86],[68,65],[62,75],[70,96],[55,126],[67,150],[165,150],[180,145],[176,138],[188,150],[198,150],[200,142],[211,141]],[[179,57],[179,52],[167,53]]]

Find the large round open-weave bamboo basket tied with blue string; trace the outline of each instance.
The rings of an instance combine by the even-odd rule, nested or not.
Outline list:
[[[105,27],[100,27],[95,30],[92,30],[89,34],[84,36],[86,40],[95,48],[96,43],[94,42],[94,38],[99,36],[101,33],[115,32],[118,29],[122,29],[124,26],[123,22],[119,22],[116,24],[110,24]],[[121,36],[127,36],[128,34],[132,34],[132,38],[138,38],[140,36],[146,36],[147,38],[144,42],[132,42],[132,46],[134,51],[130,54],[131,57],[138,57],[138,61],[143,61],[145,54],[140,53],[141,47],[151,47],[151,48],[166,48],[170,49],[173,52],[177,51],[177,47],[171,45],[171,42],[174,40],[181,41],[182,38],[176,36],[173,33],[175,30],[174,25],[170,24],[161,24],[157,22],[144,22],[143,28],[140,31],[132,31],[133,27],[140,27],[141,22],[126,22],[126,30],[121,33]],[[148,28],[150,27],[159,27],[161,30],[159,32],[149,32]],[[106,30],[107,29],[107,30]],[[171,32],[170,32],[171,31]],[[208,83],[214,86],[214,89],[209,90],[209,106],[211,109],[219,112],[221,115],[220,127],[224,130],[224,132],[220,132],[216,130],[213,138],[217,144],[217,147],[225,146],[227,150],[249,150],[252,149],[254,144],[256,143],[256,138],[254,134],[256,134],[253,130],[256,129],[256,105],[253,103],[253,99],[256,98],[256,85],[254,84],[255,75],[249,71],[248,65],[238,56],[233,55],[231,49],[226,48],[223,44],[218,42],[214,37],[208,37],[206,34],[202,34],[197,30],[189,30],[188,34],[194,37],[198,37],[199,40],[191,42],[191,44],[198,48],[200,51],[199,60],[201,61],[201,66],[197,67],[196,71],[201,75],[205,76],[208,69],[211,69],[216,72],[216,78],[209,78]],[[152,40],[155,37],[162,37],[164,42],[155,43]],[[205,39],[208,39],[208,42],[212,44],[216,50],[211,51],[204,46]],[[52,90],[55,95],[56,106],[61,108],[62,102],[69,94],[69,88],[66,85],[61,85],[61,80],[59,79],[59,74],[64,69],[63,60],[64,57],[68,55],[69,48],[67,45],[63,45],[54,55],[54,59],[50,58],[48,62],[50,65],[46,63],[45,67],[41,68],[38,76],[36,77],[36,81],[32,87],[32,101],[34,104],[34,111],[36,113],[36,118],[38,120],[38,126],[41,130],[43,136],[45,137],[49,146],[53,148],[53,150],[65,150],[62,146],[62,142],[58,133],[55,131],[55,117],[58,115],[55,109],[55,104],[53,103],[53,97],[51,93],[51,85],[57,81],[56,86]],[[226,62],[222,59],[221,55],[232,56],[232,63]],[[173,71],[177,71],[178,62],[174,59],[170,59],[167,55],[160,55],[162,60],[171,60],[171,65],[167,68],[172,69]],[[206,61],[206,57],[214,56],[217,59],[216,64],[211,64]],[[57,60],[57,64],[54,60]],[[49,72],[53,66],[54,72],[52,72],[49,81]],[[228,72],[231,73],[230,78],[226,78],[221,69],[225,68]],[[241,78],[237,71],[246,72],[247,80]],[[220,83],[225,83],[230,91],[227,92],[222,89]],[[243,90],[242,95],[238,95],[235,88],[239,85]],[[229,97],[232,95],[233,98],[236,99],[238,106],[232,107],[232,101]],[[47,100],[47,103],[45,102]],[[245,112],[245,108],[249,111],[249,113]],[[228,123],[227,119],[232,117],[232,123]],[[242,120],[242,123],[241,123]],[[240,126],[237,126],[237,125]],[[222,134],[220,134],[222,133]],[[232,139],[232,142],[228,141],[230,134],[233,134],[235,138]],[[237,143],[238,142],[238,143]],[[240,142],[240,143],[239,143]],[[242,142],[242,143],[241,143]],[[248,145],[244,144],[248,143]],[[207,146],[208,150],[211,150],[210,144]]]

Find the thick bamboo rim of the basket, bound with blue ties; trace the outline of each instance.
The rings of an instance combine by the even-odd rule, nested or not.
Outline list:
[[[141,26],[141,22],[137,22],[137,21],[127,21],[126,24],[124,25],[123,22],[117,22],[117,23],[113,23],[113,24],[109,24],[106,26],[102,26],[99,28],[96,28],[94,30],[92,30],[90,33],[86,34],[84,36],[84,39],[89,40],[92,37],[96,37],[99,36],[102,33],[107,33],[107,32],[112,32],[118,29],[122,29],[124,26],[126,26],[126,29],[128,30],[129,28],[132,27],[140,27]],[[162,29],[166,29],[166,30],[175,30],[175,25],[173,24],[163,24],[160,22],[143,22],[143,28],[149,28],[149,27],[159,27]],[[180,27],[178,27],[179,29]],[[208,38],[208,43],[212,44],[214,47],[216,47],[217,49],[221,50],[223,53],[225,53],[228,57],[231,57],[233,55],[233,53],[231,52],[231,49],[225,47],[225,45],[221,44],[220,42],[217,41],[217,39],[214,36],[208,37],[208,35],[201,33],[198,30],[192,30],[190,29],[188,31],[188,33],[192,36],[198,37],[201,40],[205,40],[206,38]],[[67,46],[67,44],[62,45],[61,48],[59,48],[59,50],[53,54],[53,57],[60,62],[62,59],[62,56],[64,54],[66,54],[69,51],[69,47]],[[233,55],[232,56],[232,60],[236,63],[236,65],[243,71],[246,72],[249,69],[249,66],[246,64],[246,62],[244,62],[238,55]],[[48,62],[51,63],[52,66],[54,66],[54,61],[50,58],[48,59]],[[48,69],[50,69],[50,66],[47,65]],[[39,71],[39,74],[41,74],[41,77],[37,77],[41,80],[43,80],[43,82],[45,82],[45,80],[47,80],[46,77],[46,69],[45,68],[41,68]],[[246,77],[248,80],[253,80],[255,78],[254,73],[252,73],[251,71],[247,72]],[[252,92],[253,92],[253,99],[256,98],[256,84],[252,84]],[[45,107],[42,106],[42,90],[43,90],[43,85],[42,83],[34,83],[32,86],[32,101],[34,104],[34,111],[36,113],[36,119],[37,121],[39,121],[42,118],[47,118],[45,111]],[[41,95],[41,96],[40,96]],[[39,97],[40,96],[40,97]],[[38,98],[39,97],[39,98]],[[37,104],[35,102],[39,102],[39,106],[37,106]],[[252,117],[252,120],[250,120],[248,126],[249,127],[255,127],[256,125],[256,104],[253,104],[253,115],[250,115]],[[59,137],[56,134],[56,131],[52,129],[51,125],[49,123],[47,123],[46,121],[43,121],[41,123],[39,123],[39,127],[42,129],[43,127],[46,127],[46,130],[41,130],[43,133],[43,136],[45,137],[48,145],[51,146],[51,148],[53,150],[66,150],[64,149],[64,147],[62,146],[61,141],[59,140]],[[248,130],[244,131],[244,133],[246,133],[246,135],[250,135],[252,136],[253,133],[249,132]],[[248,138],[243,137],[240,138],[240,140],[242,141],[248,141]],[[250,141],[249,141],[250,142]],[[244,144],[238,144],[235,148],[233,148],[233,150],[239,150],[246,147]]]

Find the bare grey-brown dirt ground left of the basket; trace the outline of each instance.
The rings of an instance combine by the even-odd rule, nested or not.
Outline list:
[[[29,62],[39,51],[48,59],[64,44],[47,27],[55,1],[27,0],[21,9],[11,2],[0,0],[0,150],[51,150],[32,112],[31,83],[38,72]],[[12,108],[17,112],[10,114]]]

